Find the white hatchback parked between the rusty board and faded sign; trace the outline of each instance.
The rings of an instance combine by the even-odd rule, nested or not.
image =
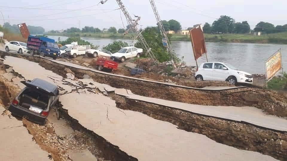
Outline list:
[[[228,81],[231,84],[253,83],[252,75],[222,62],[208,62],[199,66],[195,74],[196,81]]]

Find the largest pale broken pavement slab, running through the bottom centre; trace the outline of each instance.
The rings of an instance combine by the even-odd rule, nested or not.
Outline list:
[[[70,99],[75,97],[77,100]],[[83,127],[138,160],[275,160],[258,152],[216,143],[140,112],[119,109],[115,100],[102,94],[72,92],[61,96],[60,101],[63,109]]]

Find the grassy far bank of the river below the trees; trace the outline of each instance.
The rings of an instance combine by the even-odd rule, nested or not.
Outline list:
[[[47,33],[51,36],[80,36],[87,38],[120,38],[130,39],[129,35],[121,33]],[[135,37],[135,34],[132,34]],[[233,42],[233,43],[258,43],[258,44],[287,44],[287,32],[254,36],[250,34],[204,34],[206,42]],[[190,41],[188,35],[172,34],[171,41]]]

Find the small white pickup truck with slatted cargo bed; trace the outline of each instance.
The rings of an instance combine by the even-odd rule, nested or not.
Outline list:
[[[73,42],[71,45],[67,48],[66,54],[73,58],[76,58],[78,55],[85,55],[86,50],[91,49],[91,45],[78,45],[77,42]]]

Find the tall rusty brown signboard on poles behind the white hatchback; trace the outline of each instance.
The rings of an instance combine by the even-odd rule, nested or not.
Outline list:
[[[189,35],[193,48],[194,60],[196,61],[196,67],[198,68],[197,59],[199,59],[202,55],[206,55],[206,61],[208,62],[202,25],[200,24],[199,26],[191,29],[189,31]]]

